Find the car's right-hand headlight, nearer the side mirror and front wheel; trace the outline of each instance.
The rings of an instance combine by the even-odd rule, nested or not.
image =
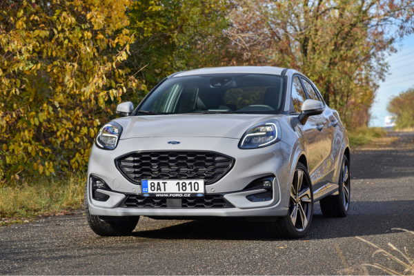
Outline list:
[[[239,148],[263,148],[280,141],[280,124],[277,120],[262,121],[249,128],[239,143]]]

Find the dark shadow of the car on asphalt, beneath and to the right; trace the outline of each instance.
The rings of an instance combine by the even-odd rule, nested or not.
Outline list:
[[[316,210],[311,230],[302,239],[383,235],[395,231],[391,228],[414,230],[413,201],[357,201],[353,205],[351,208],[362,212],[351,209],[351,215],[342,218],[324,217]],[[365,208],[369,211],[364,212]],[[275,240],[264,222],[248,222],[238,218],[183,221],[155,230],[139,230],[138,226],[132,236],[150,239]]]

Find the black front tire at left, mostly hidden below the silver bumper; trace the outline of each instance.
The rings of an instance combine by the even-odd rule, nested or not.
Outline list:
[[[126,236],[132,233],[138,224],[139,217],[130,217],[129,221],[102,221],[97,215],[90,215],[88,206],[88,186],[83,195],[83,206],[90,229],[99,236]]]

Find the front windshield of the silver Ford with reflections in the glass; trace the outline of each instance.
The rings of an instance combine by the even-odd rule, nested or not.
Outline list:
[[[137,115],[179,113],[279,114],[284,78],[259,74],[172,77],[161,83]]]

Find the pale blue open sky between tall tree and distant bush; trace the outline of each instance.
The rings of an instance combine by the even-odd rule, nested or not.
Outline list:
[[[380,89],[371,107],[369,126],[384,127],[385,117],[391,115],[386,111],[390,99],[414,86],[414,34],[404,38],[397,49],[397,53],[388,57],[391,75],[380,83]]]

